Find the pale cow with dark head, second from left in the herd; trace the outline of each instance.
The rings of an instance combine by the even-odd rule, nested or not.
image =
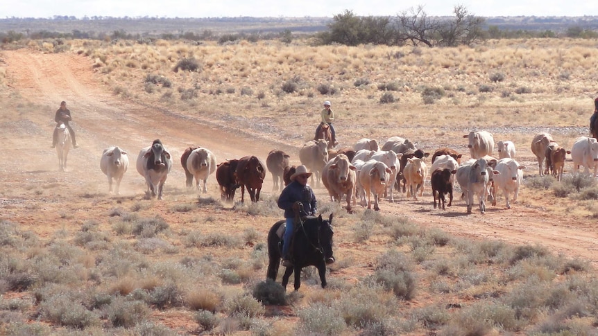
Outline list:
[[[146,179],[147,194],[157,195],[162,200],[164,182],[172,168],[170,152],[166,150],[160,139],[155,139],[151,146],[143,148],[137,156],[137,173]]]

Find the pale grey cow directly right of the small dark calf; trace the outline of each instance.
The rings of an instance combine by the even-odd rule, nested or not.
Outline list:
[[[457,168],[456,180],[463,191],[468,214],[472,213],[475,195],[477,195],[479,202],[479,210],[481,213],[486,213],[486,196],[488,195],[490,174],[499,175],[500,173],[490,167],[488,161],[484,158],[470,159]]]

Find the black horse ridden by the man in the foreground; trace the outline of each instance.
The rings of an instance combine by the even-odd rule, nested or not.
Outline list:
[[[267,278],[276,281],[278,267],[280,266],[281,238],[277,235],[278,229],[284,224],[284,220],[276,222],[268,232],[268,273]],[[301,269],[306,266],[316,266],[322,288],[326,283],[326,264],[334,263],[332,256],[332,213],[328,220],[318,217],[302,218],[300,224],[296,224],[295,236],[291,240],[291,255],[293,266],[287,267],[282,276],[282,286],[287,288],[289,277],[295,271],[295,290],[301,285]]]

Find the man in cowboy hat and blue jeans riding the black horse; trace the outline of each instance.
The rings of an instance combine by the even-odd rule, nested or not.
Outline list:
[[[291,183],[282,190],[278,197],[278,207],[284,210],[284,219],[287,222],[283,237],[284,242],[282,243],[282,265],[285,267],[293,265],[289,256],[289,245],[291,245],[291,237],[295,229],[293,226],[293,220],[295,220],[293,204],[300,202],[303,205],[300,209],[300,217],[316,215],[318,211],[316,195],[314,195],[311,187],[307,185],[307,179],[310,176],[311,173],[307,173],[305,166],[298,166],[295,173],[291,175]]]

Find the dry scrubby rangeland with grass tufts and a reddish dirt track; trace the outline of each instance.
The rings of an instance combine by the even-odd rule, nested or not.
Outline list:
[[[570,157],[563,180],[585,181],[586,196],[538,177],[530,145],[549,132],[570,150],[588,135],[597,44],[77,40],[0,51],[0,333],[592,335],[595,182],[573,176]],[[61,100],[80,146],[65,172],[51,149]],[[180,156],[201,146],[218,163],[265,161],[277,148],[298,165],[324,100],[336,114],[338,148],[402,136],[426,152],[452,148],[465,161],[463,135],[472,130],[513,141],[526,166],[518,202],[506,209],[499,191],[497,206],[467,215],[456,186],[441,211],[427,181],[418,200],[397,193],[379,213],[358,205],[349,214],[314,188],[323,216],[334,213],[328,288],[308,268],[297,293],[289,286],[276,297],[275,286],[261,283],[266,235],[282,219],[271,175],[257,204],[241,204],[240,190],[234,204],[221,204],[215,176],[205,194],[185,187]],[[146,197],[144,177],[131,167],[155,139],[173,161],[164,200]],[[131,162],[120,195],[108,193],[100,169],[112,145]],[[264,299],[264,287],[271,304],[254,299]]]

